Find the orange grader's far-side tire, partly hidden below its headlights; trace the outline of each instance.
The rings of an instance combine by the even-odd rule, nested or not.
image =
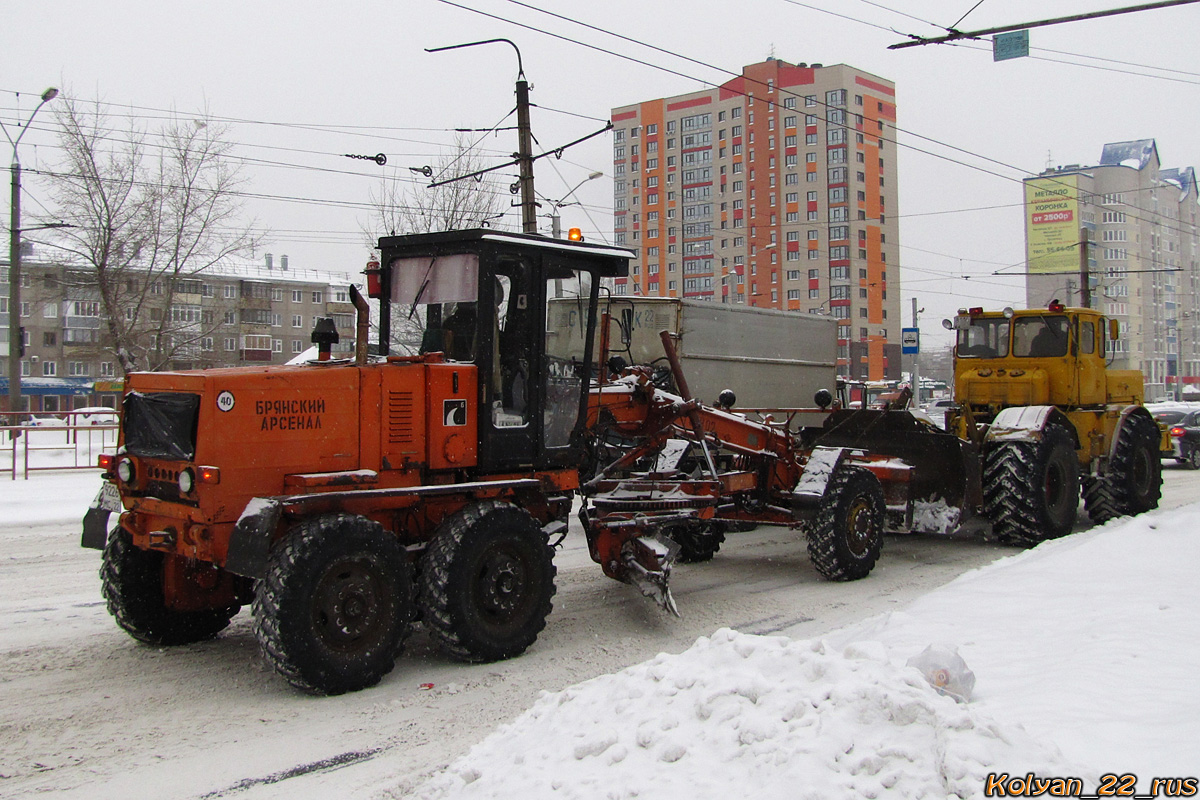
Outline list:
[[[114,528],[101,560],[101,593],[108,613],[138,642],[174,646],[211,639],[229,626],[241,606],[204,610],[168,608],[163,595],[166,555],[133,546],[130,534]]]

